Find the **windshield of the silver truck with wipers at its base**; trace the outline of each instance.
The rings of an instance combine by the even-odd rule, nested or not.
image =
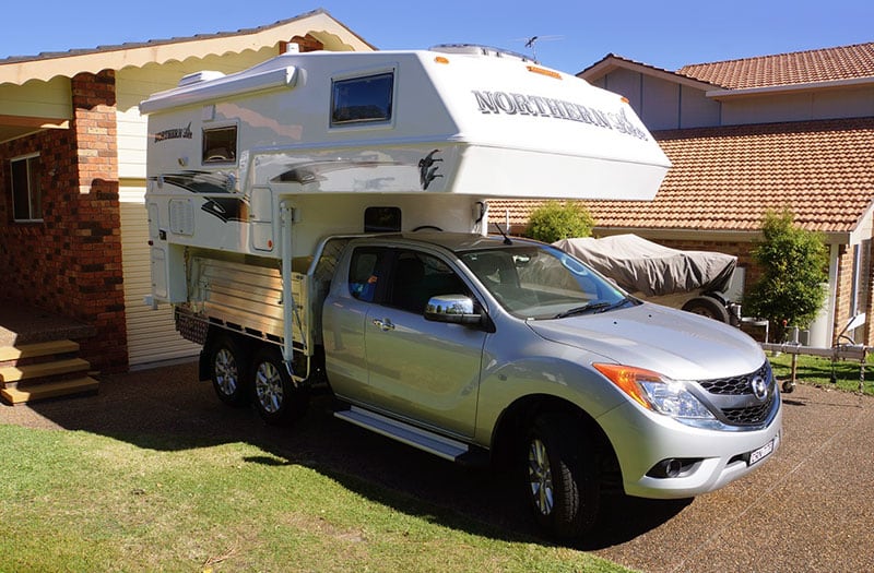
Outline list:
[[[636,303],[583,263],[552,247],[503,247],[459,255],[495,299],[520,319],[562,319]]]

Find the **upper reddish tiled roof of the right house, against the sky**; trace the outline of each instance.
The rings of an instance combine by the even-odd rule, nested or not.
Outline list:
[[[874,76],[874,43],[684,65],[677,73],[730,89]]]

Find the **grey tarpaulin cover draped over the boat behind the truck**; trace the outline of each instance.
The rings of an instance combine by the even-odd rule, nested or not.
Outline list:
[[[629,293],[662,296],[695,290],[724,290],[737,258],[708,251],[680,251],[637,235],[562,239],[563,251],[613,278]]]

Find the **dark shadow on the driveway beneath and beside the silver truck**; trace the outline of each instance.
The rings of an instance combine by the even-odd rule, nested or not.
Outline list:
[[[332,416],[328,395],[315,396],[292,427],[265,426],[250,408],[221,404],[209,383],[197,381],[194,363],[105,375],[94,396],[0,406],[0,422],[83,430],[160,451],[246,442],[272,455],[245,462],[304,465],[400,512],[492,538],[550,544],[517,501],[521,496],[509,476],[461,467],[342,422]],[[576,548],[623,544],[690,502],[610,501],[613,511]]]

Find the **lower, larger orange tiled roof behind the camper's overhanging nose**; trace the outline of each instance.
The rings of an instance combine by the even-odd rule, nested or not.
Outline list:
[[[595,225],[757,231],[768,208],[850,231],[874,200],[874,118],[654,132],[673,167],[656,199],[584,202]],[[493,220],[524,224],[540,202],[493,201]]]

